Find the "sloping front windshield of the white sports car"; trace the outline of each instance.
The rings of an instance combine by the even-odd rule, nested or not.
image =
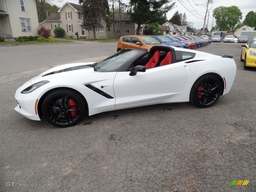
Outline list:
[[[140,54],[140,50],[135,49],[123,49],[114,55],[104,59],[93,65],[94,69],[98,72],[113,72],[117,71],[122,65],[133,59],[137,54]]]

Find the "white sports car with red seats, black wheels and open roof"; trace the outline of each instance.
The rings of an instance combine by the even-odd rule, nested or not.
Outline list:
[[[123,49],[101,62],[52,68],[20,86],[15,110],[67,127],[93,115],[158,103],[205,108],[229,92],[236,75],[231,55],[153,46]]]

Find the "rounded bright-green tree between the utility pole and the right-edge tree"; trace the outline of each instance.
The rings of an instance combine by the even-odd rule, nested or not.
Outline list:
[[[216,27],[221,31],[230,31],[242,19],[241,10],[237,6],[219,6],[213,10],[212,16],[215,18]]]

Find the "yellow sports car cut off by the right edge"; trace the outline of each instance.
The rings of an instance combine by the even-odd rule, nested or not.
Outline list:
[[[242,45],[241,61],[244,61],[243,68],[256,67],[256,39]]]

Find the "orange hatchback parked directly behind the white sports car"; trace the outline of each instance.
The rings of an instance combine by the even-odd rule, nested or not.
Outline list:
[[[120,40],[117,45],[117,51],[120,51],[124,48],[133,48],[133,49],[147,49],[148,51],[154,45],[164,45],[153,37],[146,35],[127,35],[120,37]]]

